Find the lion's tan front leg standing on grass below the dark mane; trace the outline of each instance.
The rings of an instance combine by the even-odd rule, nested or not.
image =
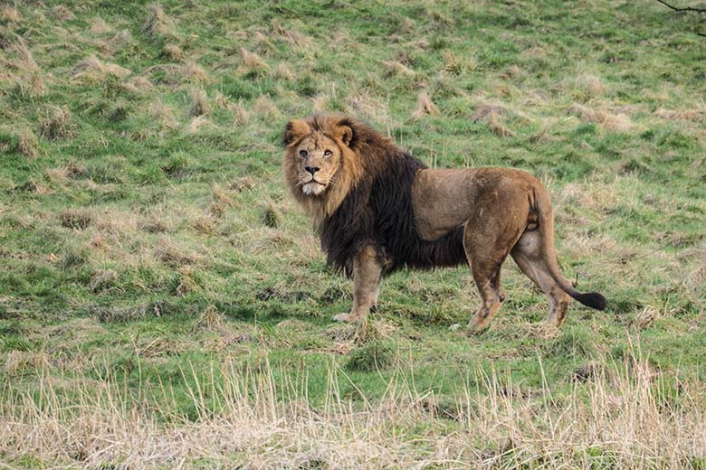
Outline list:
[[[348,314],[333,317],[339,322],[365,322],[367,313],[377,307],[377,293],[382,278],[382,266],[372,245],[361,249],[353,259],[353,308]]]

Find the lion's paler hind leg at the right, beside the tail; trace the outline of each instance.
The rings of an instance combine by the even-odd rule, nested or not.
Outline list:
[[[549,274],[549,268],[540,253],[539,230],[526,231],[510,251],[510,255],[517,263],[520,270],[539,287],[542,292],[549,295],[550,307],[547,323],[561,326],[567,315],[571,297],[558,286],[554,277]]]

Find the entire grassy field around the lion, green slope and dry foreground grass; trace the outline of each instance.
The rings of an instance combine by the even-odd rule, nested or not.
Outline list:
[[[646,0],[0,5],[0,462],[706,468],[696,33]],[[509,261],[484,334],[467,268],[333,324],[280,169],[319,111],[537,175],[606,312],[544,327]]]

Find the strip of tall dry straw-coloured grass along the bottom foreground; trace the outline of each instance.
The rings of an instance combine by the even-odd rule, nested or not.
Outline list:
[[[605,361],[593,362],[606,363]],[[378,400],[344,398],[332,364],[322,406],[308,378],[275,380],[264,359],[205,377],[184,373],[196,416],[176,412],[171,386],[129,390],[113,379],[44,374],[28,390],[5,381],[0,456],[97,468],[702,468],[706,394],[654,371],[639,353],[581,374],[569,393],[525,390],[509,372],[472,371],[453,400],[416,390],[396,371]],[[61,390],[60,390],[61,389]],[[150,391],[151,390],[151,391]],[[362,396],[362,395],[361,395]],[[701,466],[699,466],[701,465]]]

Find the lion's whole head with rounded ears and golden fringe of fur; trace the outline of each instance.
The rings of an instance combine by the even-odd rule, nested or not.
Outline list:
[[[360,177],[349,118],[292,119],[284,131],[284,177],[291,193],[321,221],[335,211]]]

